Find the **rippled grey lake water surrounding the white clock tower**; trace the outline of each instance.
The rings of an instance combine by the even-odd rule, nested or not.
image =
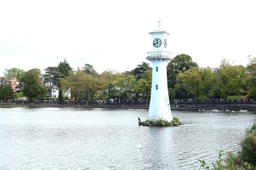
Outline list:
[[[237,151],[255,112],[172,110],[183,125],[142,127],[148,109],[0,108],[0,169],[198,169]],[[142,148],[137,148],[141,145]]]

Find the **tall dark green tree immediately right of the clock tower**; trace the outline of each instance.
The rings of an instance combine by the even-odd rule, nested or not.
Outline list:
[[[192,67],[198,67],[198,65],[187,54],[180,54],[173,58],[167,65],[168,88],[174,88],[178,73],[184,72]]]

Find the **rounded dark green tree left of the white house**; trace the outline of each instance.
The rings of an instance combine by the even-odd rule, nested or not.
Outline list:
[[[30,101],[42,98],[47,94],[47,89],[41,83],[40,75],[40,70],[33,68],[28,72],[25,72],[20,79],[22,92]]]

